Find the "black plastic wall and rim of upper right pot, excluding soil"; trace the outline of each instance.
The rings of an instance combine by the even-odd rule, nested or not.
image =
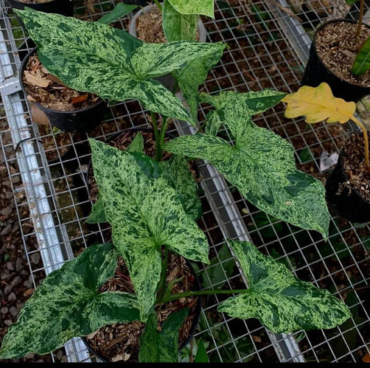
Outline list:
[[[325,22],[317,28],[314,33],[314,40],[310,47],[310,57],[303,73],[301,85],[309,85],[310,87],[317,87],[320,83],[326,82],[330,85],[330,88],[335,97],[344,99],[345,101],[358,102],[363,97],[370,94],[370,86],[355,85],[339,78],[328,69],[317,55],[315,47],[315,38],[317,33],[323,29],[327,24],[335,22],[349,22],[356,24],[357,22],[351,19],[332,19]],[[366,25],[367,26],[367,25]],[[369,27],[369,26],[367,26]]]

